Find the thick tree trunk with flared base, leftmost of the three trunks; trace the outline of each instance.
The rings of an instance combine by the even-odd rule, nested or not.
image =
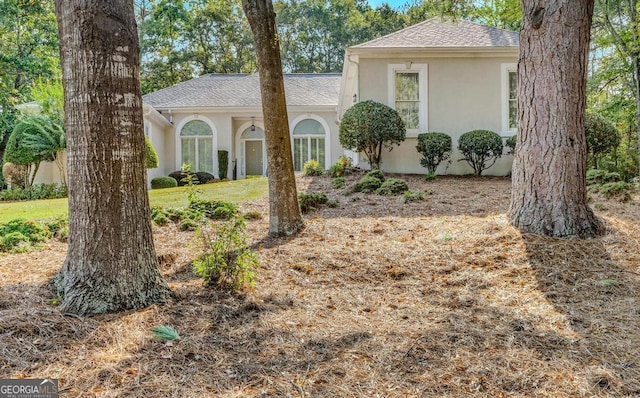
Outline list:
[[[147,196],[133,3],[56,0],[68,139],[69,248],[54,280],[63,313],[163,302]]]

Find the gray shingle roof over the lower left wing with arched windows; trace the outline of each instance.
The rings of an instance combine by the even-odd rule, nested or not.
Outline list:
[[[289,106],[338,105],[340,74],[285,74]],[[257,74],[208,74],[143,96],[155,108],[260,107]]]

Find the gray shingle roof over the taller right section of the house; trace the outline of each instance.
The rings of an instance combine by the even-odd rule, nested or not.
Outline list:
[[[517,47],[518,32],[468,21],[427,19],[353,48]]]

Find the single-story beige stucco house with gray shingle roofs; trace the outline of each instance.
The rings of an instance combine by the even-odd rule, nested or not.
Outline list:
[[[309,159],[328,168],[343,154],[367,168],[364,156],[340,145],[338,125],[355,102],[374,100],[398,110],[407,126],[405,142],[383,153],[384,171],[425,173],[416,138],[439,131],[454,151],[438,173],[471,174],[458,161],[460,135],[515,134],[518,44],[516,32],[432,18],[347,48],[342,74],[285,74],[296,171]],[[184,163],[219,177],[219,150],[229,152],[229,178],[265,175],[259,90],[257,74],[208,74],[143,96],[145,134],[160,159],[149,179]],[[503,156],[485,174],[506,175],[511,162]]]

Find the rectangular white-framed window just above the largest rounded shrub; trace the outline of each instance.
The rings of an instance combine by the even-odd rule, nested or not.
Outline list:
[[[389,65],[389,106],[394,108],[408,132],[427,130],[427,65]]]

